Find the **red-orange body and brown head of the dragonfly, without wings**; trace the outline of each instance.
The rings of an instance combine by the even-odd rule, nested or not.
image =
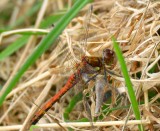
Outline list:
[[[91,79],[96,77],[102,71],[105,71],[105,65],[109,67],[115,64],[115,53],[110,49],[104,49],[102,57],[91,57],[83,56],[81,62],[76,64],[77,70],[70,75],[66,84],[50,98],[38,112],[35,113],[30,121],[30,125],[35,125],[43,115],[71,88],[73,88],[79,81],[83,79],[86,75],[93,75],[93,77],[88,78],[86,81],[89,82]],[[104,75],[105,77],[105,75]]]

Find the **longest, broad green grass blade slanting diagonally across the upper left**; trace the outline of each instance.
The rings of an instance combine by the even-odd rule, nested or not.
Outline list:
[[[91,0],[77,0],[73,7],[62,17],[62,19],[57,23],[57,25],[51,30],[51,32],[39,43],[34,52],[27,58],[25,63],[12,78],[6,90],[1,93],[0,96],[0,106],[3,104],[7,94],[12,90],[12,88],[19,81],[23,73],[44,53],[57,39],[69,22],[77,15],[77,13]]]

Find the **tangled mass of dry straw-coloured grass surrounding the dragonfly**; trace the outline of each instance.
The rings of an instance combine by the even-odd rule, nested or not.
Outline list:
[[[9,3],[7,0],[0,3],[1,12],[12,8],[9,12],[9,19],[2,20],[5,23],[16,23],[16,19],[23,16],[30,9],[33,2]],[[70,2],[70,0],[69,0]],[[32,17],[26,18],[24,23],[13,28],[32,30],[39,28],[44,17],[51,15],[57,10],[64,9],[66,3],[64,0],[44,1],[43,5]],[[85,43],[86,15],[89,6],[85,7],[79,15],[72,20],[68,27],[57,40],[58,45],[51,47],[44,53],[30,69],[23,75],[17,86],[7,96],[6,101],[0,108],[0,130],[14,130],[14,127],[8,125],[23,124],[23,129],[28,120],[33,116],[37,105],[41,105],[45,100],[57,92],[66,82],[67,77],[75,70],[76,62],[80,61],[82,55],[101,56],[105,48],[113,49],[111,36],[115,35],[122,49],[128,71],[131,76],[133,87],[137,92],[139,109],[141,111],[142,123],[145,130],[159,130],[160,126],[160,67],[159,67],[159,43],[160,43],[160,2],[152,1],[110,1],[98,0],[93,3],[93,13],[89,23],[87,43]],[[34,22],[33,22],[34,21]],[[35,23],[35,24],[33,24]],[[48,29],[43,31],[47,32]],[[1,37],[4,34],[1,34]],[[19,35],[7,34],[1,38],[0,48],[4,49],[10,43],[14,42]],[[42,35],[30,37],[26,46],[15,52],[0,62],[0,84],[4,87],[10,81],[10,78],[18,71],[25,58],[30,54],[34,47],[41,40]],[[85,54],[82,53],[84,50]],[[121,74],[120,66],[114,67],[116,74]],[[112,85],[115,87],[124,87],[124,79],[120,76],[111,75]],[[52,88],[52,89],[51,89]],[[79,88],[79,87],[76,87]],[[70,99],[76,93],[76,89],[69,91],[63,99],[54,105],[54,109],[49,111],[54,118],[63,123],[63,113]],[[115,96],[116,97],[116,96]],[[116,97],[117,98],[117,97]],[[116,99],[115,98],[115,99]],[[117,99],[115,100],[116,103]],[[36,104],[35,104],[36,103]],[[129,103],[128,103],[129,104]],[[86,117],[87,113],[81,107],[82,103],[77,104],[70,114],[71,120],[77,120]],[[94,107],[92,101],[91,107]],[[122,103],[121,107],[124,104]],[[110,106],[111,107],[111,106]],[[112,108],[112,107],[111,107]],[[92,109],[94,110],[94,109]],[[111,112],[101,122],[95,124],[95,130],[121,130],[128,115],[129,108],[117,109]],[[131,111],[128,116],[129,126],[126,130],[138,130],[137,121],[134,120],[134,114]],[[25,122],[24,122],[25,121]],[[114,121],[114,122],[110,122]],[[46,115],[39,123],[52,123],[53,118]],[[106,123],[105,123],[106,122]],[[108,124],[109,123],[109,124]],[[120,124],[121,123],[121,124]],[[88,124],[88,125],[87,125]],[[93,130],[82,123],[68,124],[75,130],[86,129]],[[101,124],[103,124],[101,126]],[[51,124],[50,124],[51,125]],[[54,124],[41,125],[40,127],[54,127]],[[80,126],[78,126],[80,125]],[[3,128],[2,128],[3,126]],[[5,127],[6,126],[6,127]],[[21,126],[15,126],[19,129]],[[57,125],[57,127],[59,127]],[[55,127],[56,128],[56,127]],[[46,129],[44,129],[46,130]]]

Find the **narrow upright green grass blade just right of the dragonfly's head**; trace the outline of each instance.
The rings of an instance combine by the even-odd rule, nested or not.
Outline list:
[[[132,105],[132,109],[134,111],[136,119],[140,120],[141,119],[140,111],[139,111],[139,108],[138,108],[138,103],[137,103],[137,100],[136,100],[135,91],[134,91],[134,89],[132,87],[132,83],[131,83],[131,80],[130,80],[130,77],[129,77],[129,74],[128,74],[128,71],[127,71],[126,63],[124,61],[124,58],[123,58],[122,52],[121,52],[121,50],[120,50],[120,48],[118,46],[118,43],[116,42],[116,39],[112,37],[112,41],[113,41],[113,45],[114,45],[114,50],[115,50],[116,56],[117,56],[118,61],[119,61],[120,65],[121,65],[121,71],[122,71],[123,77],[125,79],[128,95],[129,95],[129,98],[130,98],[130,101],[131,101],[131,105]],[[139,127],[140,131],[143,130],[142,125],[138,125],[138,127]]]

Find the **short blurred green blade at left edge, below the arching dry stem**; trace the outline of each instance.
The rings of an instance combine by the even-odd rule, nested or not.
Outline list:
[[[29,36],[22,36],[18,38],[15,42],[11,43],[6,49],[0,52],[0,61],[5,59],[7,56],[11,55],[23,45],[25,45],[28,41]]]

